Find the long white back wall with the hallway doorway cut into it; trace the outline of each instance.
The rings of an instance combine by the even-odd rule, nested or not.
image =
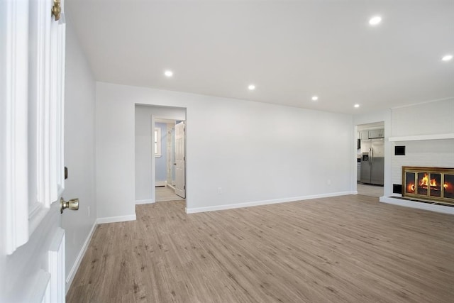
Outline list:
[[[135,214],[135,104],[187,109],[188,211],[352,187],[350,115],[98,82],[100,217]]]

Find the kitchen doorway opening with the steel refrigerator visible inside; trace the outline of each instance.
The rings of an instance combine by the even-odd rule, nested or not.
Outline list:
[[[357,191],[370,197],[384,195],[384,121],[357,126]]]

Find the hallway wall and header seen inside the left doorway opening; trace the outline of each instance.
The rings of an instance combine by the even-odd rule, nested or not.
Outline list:
[[[186,120],[186,109],[166,106],[135,106],[135,200],[154,202],[151,117]],[[165,145],[165,142],[162,142]]]

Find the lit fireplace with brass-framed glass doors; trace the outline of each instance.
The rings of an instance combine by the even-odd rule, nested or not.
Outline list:
[[[402,167],[402,197],[454,205],[454,168]]]

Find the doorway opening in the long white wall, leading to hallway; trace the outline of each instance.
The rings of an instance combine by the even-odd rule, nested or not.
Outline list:
[[[172,196],[171,199],[181,202],[187,198],[186,141],[180,142],[180,148],[174,144],[177,125],[185,126],[186,122],[185,108],[135,104],[135,204],[162,201],[160,189],[169,189],[175,194],[180,184],[178,180],[182,180],[184,194],[180,192],[178,198]],[[174,165],[178,150],[183,155],[180,175]]]

